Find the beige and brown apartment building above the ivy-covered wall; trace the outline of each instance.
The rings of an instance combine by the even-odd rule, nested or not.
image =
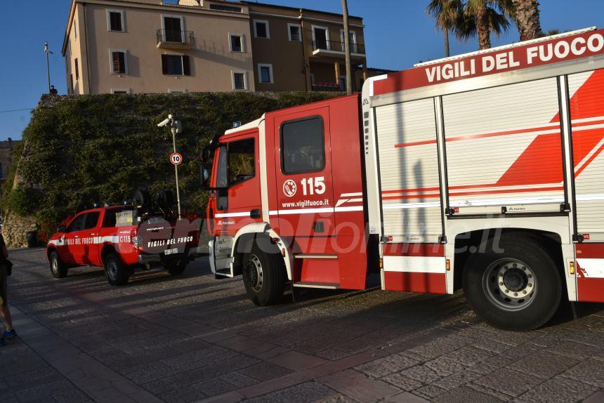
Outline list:
[[[362,18],[350,44],[358,91]],[[256,2],[73,0],[63,56],[70,94],[345,89],[341,15]]]

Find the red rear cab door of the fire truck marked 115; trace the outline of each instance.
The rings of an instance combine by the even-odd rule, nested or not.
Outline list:
[[[325,253],[318,240],[335,233],[329,107],[277,116],[274,128],[278,210],[270,214],[282,236],[313,238],[298,253]]]

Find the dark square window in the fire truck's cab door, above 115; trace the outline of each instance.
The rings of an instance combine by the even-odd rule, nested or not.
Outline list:
[[[325,168],[323,119],[285,122],[281,125],[281,171],[286,174],[317,172]]]

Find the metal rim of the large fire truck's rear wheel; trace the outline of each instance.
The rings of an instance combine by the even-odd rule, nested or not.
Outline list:
[[[508,312],[527,308],[537,295],[537,277],[521,260],[499,259],[482,275],[482,290],[491,303]]]

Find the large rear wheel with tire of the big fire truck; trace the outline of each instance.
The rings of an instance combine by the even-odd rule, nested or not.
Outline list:
[[[464,293],[478,316],[511,331],[537,329],[549,321],[563,286],[555,254],[546,244],[537,237],[504,234],[480,250],[485,252],[468,259],[463,275]]]

